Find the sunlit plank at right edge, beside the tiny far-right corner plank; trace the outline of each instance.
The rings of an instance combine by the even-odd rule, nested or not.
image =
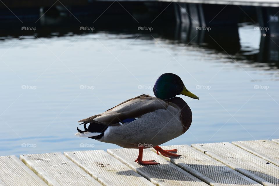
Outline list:
[[[270,140],[234,141],[232,144],[279,166],[279,145]]]

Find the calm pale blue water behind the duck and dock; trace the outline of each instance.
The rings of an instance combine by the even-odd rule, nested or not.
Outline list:
[[[74,136],[77,121],[153,95],[166,72],[200,100],[183,97],[192,125],[164,145],[279,138],[276,41],[245,24],[225,39],[197,33],[3,37],[0,155],[118,148]]]

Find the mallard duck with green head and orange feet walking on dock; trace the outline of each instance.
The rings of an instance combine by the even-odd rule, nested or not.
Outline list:
[[[135,160],[138,164],[160,164],[154,160],[143,161],[144,148],[153,147],[158,155],[160,152],[166,157],[179,157],[177,149],[163,150],[158,145],[182,135],[192,123],[190,107],[176,95],[199,98],[189,92],[180,77],[173,73],[162,74],[153,92],[156,97],[142,94],[104,113],[80,120],[84,130],[77,127],[76,136],[139,149]]]

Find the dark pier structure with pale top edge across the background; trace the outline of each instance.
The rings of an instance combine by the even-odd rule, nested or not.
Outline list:
[[[16,19],[15,17],[37,20],[47,12],[58,14],[63,9],[83,11],[81,7],[87,7],[87,12],[90,11],[90,7],[92,7],[92,12],[98,12],[96,11],[98,7],[109,6],[112,3],[115,3],[115,0],[2,0],[0,20]],[[245,12],[243,7],[251,6],[256,7],[262,35],[279,35],[278,0],[117,0],[117,3],[128,7],[134,6],[133,9],[137,9],[139,3],[143,3],[149,8],[152,6],[151,11],[157,9],[160,15],[172,17],[173,22],[201,28],[237,25],[239,14]],[[109,8],[108,6],[105,8]],[[53,8],[56,8],[56,11],[51,11]],[[130,12],[127,8],[127,11],[133,14],[133,10]],[[117,11],[114,13],[117,14]]]

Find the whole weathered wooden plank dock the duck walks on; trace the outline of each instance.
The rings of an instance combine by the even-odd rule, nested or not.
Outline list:
[[[109,149],[0,157],[0,185],[279,185],[279,139],[162,146],[179,158],[137,149]]]

